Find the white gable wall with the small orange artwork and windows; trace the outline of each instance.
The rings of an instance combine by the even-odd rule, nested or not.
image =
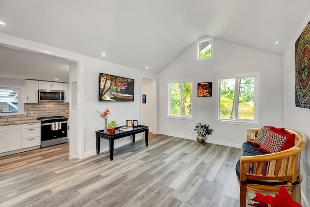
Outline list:
[[[214,59],[195,61],[195,44],[158,74],[158,133],[196,139],[197,122],[214,129],[207,142],[241,147],[251,125],[217,123],[217,77],[260,72],[261,125],[282,126],[281,56],[214,39]],[[193,79],[194,120],[167,118],[169,80]],[[212,97],[197,97],[198,82],[213,82]],[[244,137],[242,137],[242,135]]]

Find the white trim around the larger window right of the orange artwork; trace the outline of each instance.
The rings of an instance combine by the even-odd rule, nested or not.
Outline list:
[[[246,78],[254,78],[254,120],[248,119],[221,119],[220,118],[220,106],[219,106],[219,96],[220,96],[220,79],[246,79]],[[250,126],[260,126],[261,125],[261,92],[260,92],[260,83],[261,83],[261,73],[246,73],[246,74],[237,74],[232,76],[223,76],[217,77],[217,123],[223,124],[237,124],[237,125],[250,125]],[[236,111],[237,113],[238,111]]]

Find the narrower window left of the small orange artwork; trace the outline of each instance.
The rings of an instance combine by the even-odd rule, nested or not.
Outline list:
[[[169,116],[192,117],[192,82],[169,83]]]

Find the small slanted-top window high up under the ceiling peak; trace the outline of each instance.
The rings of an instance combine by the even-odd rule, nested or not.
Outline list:
[[[196,42],[196,60],[213,58],[213,37],[204,37]]]

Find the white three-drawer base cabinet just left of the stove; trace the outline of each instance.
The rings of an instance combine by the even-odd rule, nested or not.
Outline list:
[[[21,148],[41,144],[41,123],[22,124],[21,128]]]

